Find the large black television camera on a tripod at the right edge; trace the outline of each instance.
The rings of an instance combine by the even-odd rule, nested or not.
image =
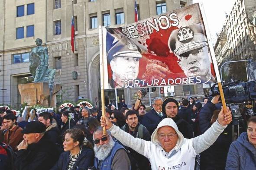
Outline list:
[[[230,107],[232,113],[234,140],[234,135],[237,134],[238,137],[240,130],[245,131],[247,120],[254,116],[253,106],[256,100],[256,82],[241,82],[240,80],[228,83],[222,82],[222,89],[227,106]],[[211,87],[209,96],[214,97],[218,94],[220,94],[220,91],[218,84],[215,83]],[[234,128],[234,126],[237,126],[237,128]],[[234,132],[234,129],[237,129],[237,133]]]

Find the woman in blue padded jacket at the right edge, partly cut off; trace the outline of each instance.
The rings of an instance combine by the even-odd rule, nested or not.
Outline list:
[[[255,170],[256,167],[256,116],[248,120],[247,132],[241,133],[230,145],[226,170]]]

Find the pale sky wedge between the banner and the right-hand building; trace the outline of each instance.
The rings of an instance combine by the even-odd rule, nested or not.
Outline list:
[[[222,26],[225,23],[226,14],[230,14],[235,0],[193,0],[194,3],[202,2],[208,22],[208,28],[211,32],[211,38],[215,43],[217,36],[220,33]]]

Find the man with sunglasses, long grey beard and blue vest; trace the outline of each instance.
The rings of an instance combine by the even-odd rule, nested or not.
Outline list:
[[[131,170],[125,148],[113,140],[109,131],[104,135],[103,128],[98,127],[93,134],[93,142],[94,167],[97,170]]]

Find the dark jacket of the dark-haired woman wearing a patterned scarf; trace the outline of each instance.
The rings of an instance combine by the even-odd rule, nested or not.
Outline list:
[[[52,167],[51,170],[67,170],[68,164],[69,164],[69,154],[70,151],[63,152],[58,162],[55,164],[54,167]],[[73,166],[72,170],[87,170],[88,167],[91,167],[94,165],[94,152],[90,148],[83,147],[81,154],[75,161],[75,164]]]

